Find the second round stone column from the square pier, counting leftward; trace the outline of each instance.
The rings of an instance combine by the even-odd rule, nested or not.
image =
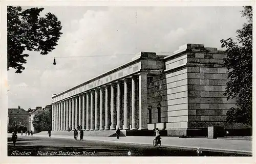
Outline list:
[[[124,129],[130,129],[129,79],[124,79]]]

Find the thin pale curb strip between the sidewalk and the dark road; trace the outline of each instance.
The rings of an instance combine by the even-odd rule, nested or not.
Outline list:
[[[41,137],[48,137],[41,135]],[[62,138],[62,139],[73,139],[73,137],[63,137],[63,136],[53,136],[53,138]],[[83,141],[98,141],[98,142],[106,142],[106,143],[120,143],[120,144],[133,144],[133,145],[153,145],[150,143],[134,143],[134,142],[124,142],[124,141],[108,141],[108,140],[96,140],[96,139],[84,139]],[[193,146],[179,146],[179,145],[161,145],[169,148],[176,148],[181,150],[197,150],[199,147]],[[251,151],[245,150],[230,150],[230,149],[216,149],[216,148],[207,148],[201,147],[201,151],[211,151],[211,152],[220,152],[220,153],[233,153],[233,154],[243,154],[243,155],[252,155]]]

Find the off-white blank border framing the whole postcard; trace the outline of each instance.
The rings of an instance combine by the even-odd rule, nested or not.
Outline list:
[[[8,157],[7,156],[7,5],[19,6],[254,6],[255,1],[1,1],[1,43],[0,43],[0,163],[256,163],[255,130],[253,130],[253,157]],[[255,8],[253,7],[254,15]],[[255,16],[253,16],[255,27]],[[255,28],[254,28],[255,29]],[[253,54],[255,48],[253,31]],[[253,55],[254,56],[254,55]],[[253,70],[255,70],[253,57]],[[255,108],[255,72],[253,71],[253,108]],[[255,127],[253,111],[253,127]],[[255,128],[254,128],[255,129]]]

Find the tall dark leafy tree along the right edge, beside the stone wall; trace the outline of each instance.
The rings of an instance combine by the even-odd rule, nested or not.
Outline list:
[[[222,47],[227,48],[224,66],[229,79],[224,95],[236,98],[237,104],[228,110],[226,120],[252,125],[252,7],[245,6],[241,13],[248,22],[237,30],[236,40],[221,40]]]

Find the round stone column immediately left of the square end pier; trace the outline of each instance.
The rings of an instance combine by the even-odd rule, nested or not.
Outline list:
[[[137,77],[132,77],[132,129],[137,129],[136,116],[137,116]]]

